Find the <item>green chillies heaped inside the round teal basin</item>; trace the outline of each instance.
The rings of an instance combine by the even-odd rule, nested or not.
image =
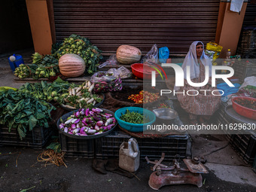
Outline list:
[[[150,122],[149,117],[146,117],[143,114],[140,114],[138,112],[131,112],[129,109],[126,110],[125,114],[121,114],[120,120],[123,120],[127,123],[148,123]]]

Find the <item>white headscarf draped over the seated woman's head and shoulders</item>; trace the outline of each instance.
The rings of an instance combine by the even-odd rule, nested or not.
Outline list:
[[[199,78],[200,75],[200,65],[197,62],[197,44],[201,43],[201,41],[194,41],[190,47],[189,51],[187,52],[187,55],[184,59],[184,62],[182,64],[182,69],[184,71],[184,79],[187,79],[187,66],[190,66],[190,79]],[[203,46],[204,49],[204,46]],[[208,56],[206,56],[205,51],[203,50],[202,56],[200,57],[201,63],[203,63],[203,66],[209,66],[209,77],[212,76],[212,62],[209,59]]]

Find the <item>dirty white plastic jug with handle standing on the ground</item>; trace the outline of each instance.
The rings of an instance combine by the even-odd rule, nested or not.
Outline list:
[[[119,167],[128,172],[136,172],[139,169],[139,145],[136,139],[131,138],[123,142],[119,149]]]

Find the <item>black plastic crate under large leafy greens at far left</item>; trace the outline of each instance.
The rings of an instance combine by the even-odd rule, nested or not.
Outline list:
[[[32,131],[26,132],[26,138],[20,140],[20,135],[15,128],[11,128],[9,133],[9,128],[0,125],[0,145],[14,145],[41,149],[50,140],[50,136],[53,133],[51,127],[44,128],[35,126]]]

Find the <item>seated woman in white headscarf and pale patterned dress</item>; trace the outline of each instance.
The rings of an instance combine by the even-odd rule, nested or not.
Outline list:
[[[189,114],[190,123],[197,124],[199,120],[200,123],[206,123],[211,115],[218,109],[221,103],[221,96],[212,95],[212,62],[209,57],[204,53],[203,43],[200,41],[194,41],[190,45],[190,49],[187,56],[182,64],[182,69],[184,71],[184,87],[175,87],[175,90],[181,91],[183,94],[177,94],[178,101],[181,107]],[[190,80],[194,83],[201,83],[205,80],[205,67],[209,66],[209,81],[203,87],[192,87],[187,83],[187,66],[190,66]],[[197,90],[197,96],[186,95],[187,90]],[[210,91],[200,91],[200,90],[210,90]],[[217,92],[218,93],[218,92]],[[191,95],[192,93],[190,93]],[[216,91],[215,91],[216,94]]]

